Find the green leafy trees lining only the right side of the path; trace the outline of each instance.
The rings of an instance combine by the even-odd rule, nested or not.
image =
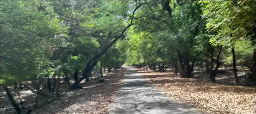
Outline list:
[[[129,30],[128,64],[191,78],[203,66],[215,82],[220,66],[249,68],[255,82],[255,1],[151,1]],[[146,10],[148,9],[148,10]]]

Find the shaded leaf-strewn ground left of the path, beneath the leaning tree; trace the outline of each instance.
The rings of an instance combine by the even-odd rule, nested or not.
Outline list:
[[[89,82],[82,81],[80,85],[83,88],[78,90],[66,90],[67,86],[61,84],[60,98],[38,97],[37,109],[33,107],[36,94],[23,89],[21,97],[26,108],[33,110],[32,114],[107,114],[113,98],[118,94],[124,73],[124,68],[113,71],[105,76],[104,83],[98,83],[96,77]],[[2,94],[4,90],[1,87]],[[1,96],[1,114],[15,114],[14,108],[4,108],[10,105],[7,96]]]

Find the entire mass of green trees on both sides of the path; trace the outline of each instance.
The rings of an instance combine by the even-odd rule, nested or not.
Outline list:
[[[235,85],[240,65],[255,82],[255,30],[255,0],[1,1],[1,85],[20,114],[7,85],[58,96],[61,79],[78,89],[92,72],[101,78],[124,62],[173,67],[181,78],[205,65],[212,82],[231,65]]]

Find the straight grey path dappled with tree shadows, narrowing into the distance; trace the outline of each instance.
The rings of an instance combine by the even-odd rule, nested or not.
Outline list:
[[[201,114],[189,104],[168,100],[132,67],[126,67],[120,95],[114,100],[110,114]]]

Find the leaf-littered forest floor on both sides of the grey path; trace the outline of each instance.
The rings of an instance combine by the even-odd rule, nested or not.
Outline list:
[[[133,68],[143,76],[150,85],[166,94],[166,98],[189,105],[191,108],[211,114],[255,114],[255,87],[234,86],[230,73],[217,74],[216,83],[209,82],[208,74],[194,72],[193,78],[178,78],[171,71],[157,72]],[[98,83],[97,77],[89,82],[81,82],[82,89],[67,90],[60,86],[59,98],[38,96],[37,108],[34,108],[36,94],[22,89],[21,98],[26,109],[32,114],[108,114],[112,103],[120,95],[122,80],[126,69],[112,71],[105,76],[104,83]],[[243,80],[240,80],[243,82]],[[71,82],[72,84],[73,82]],[[12,89],[12,87],[9,87]],[[139,89],[140,87],[138,87]],[[9,98],[1,87],[1,114],[15,114]],[[153,97],[153,96],[152,96]],[[15,100],[19,102],[17,96]]]

